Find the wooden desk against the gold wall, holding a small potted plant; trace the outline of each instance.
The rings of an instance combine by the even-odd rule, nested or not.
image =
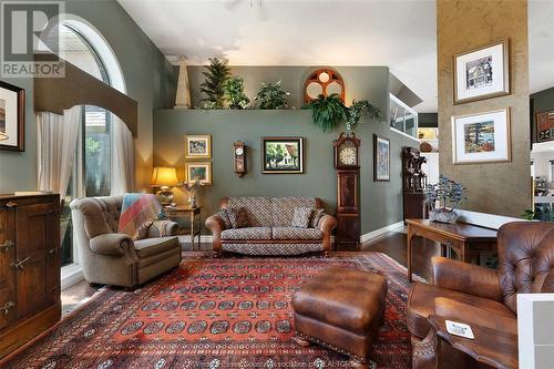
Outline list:
[[[407,219],[408,280],[412,281],[412,240],[416,236],[432,239],[453,249],[460,259],[470,263],[480,252],[496,249],[496,230],[466,223],[445,224],[429,219]],[[479,263],[478,263],[479,264]]]

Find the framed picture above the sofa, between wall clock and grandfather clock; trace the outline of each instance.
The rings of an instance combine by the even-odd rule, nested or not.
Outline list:
[[[304,173],[302,137],[261,137],[261,173]]]

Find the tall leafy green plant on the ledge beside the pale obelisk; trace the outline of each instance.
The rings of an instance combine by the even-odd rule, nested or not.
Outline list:
[[[201,92],[206,98],[201,100],[203,109],[225,109],[225,83],[230,78],[230,70],[226,60],[209,59],[209,65],[202,72],[206,80],[201,84]]]

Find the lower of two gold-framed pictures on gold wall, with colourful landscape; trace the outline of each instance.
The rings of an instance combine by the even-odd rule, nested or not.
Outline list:
[[[454,164],[510,162],[510,109],[452,116]]]

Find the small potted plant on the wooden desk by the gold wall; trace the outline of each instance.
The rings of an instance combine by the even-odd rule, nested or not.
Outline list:
[[[424,204],[430,207],[429,219],[454,224],[458,213],[454,209],[468,197],[465,187],[443,175],[438,184],[427,185],[423,189]]]

